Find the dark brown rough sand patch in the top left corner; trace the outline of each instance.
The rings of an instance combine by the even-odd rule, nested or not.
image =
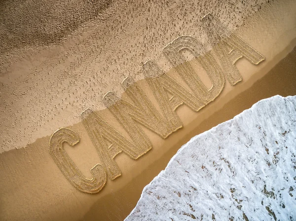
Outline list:
[[[111,0],[2,0],[0,54],[58,43],[111,4]]]

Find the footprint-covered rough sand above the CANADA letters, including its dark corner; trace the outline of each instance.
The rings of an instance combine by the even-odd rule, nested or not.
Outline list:
[[[105,109],[103,96],[121,95],[127,76],[143,79],[149,59],[170,70],[162,50],[177,37],[194,36],[209,49],[204,15],[234,31],[265,1],[1,1],[0,152],[80,122],[86,108]]]

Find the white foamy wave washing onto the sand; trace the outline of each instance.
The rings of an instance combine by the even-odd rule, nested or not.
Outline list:
[[[273,96],[193,137],[125,221],[296,220],[296,96]]]

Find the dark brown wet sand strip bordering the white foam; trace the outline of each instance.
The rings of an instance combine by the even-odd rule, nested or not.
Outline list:
[[[296,43],[296,40],[295,42]],[[296,95],[296,48],[275,67],[273,67],[263,78],[257,80],[253,76],[248,84],[255,80],[255,83],[240,93],[240,89],[234,89],[232,93],[239,93],[234,98],[225,96],[222,100],[213,103],[212,108],[219,111],[203,118],[196,119],[186,126],[188,133],[180,133],[182,140],[170,147],[170,150],[162,157],[153,162],[131,182],[116,192],[112,192],[96,202],[82,220],[94,221],[100,217],[106,217],[110,221],[124,220],[137,204],[143,188],[148,185],[158,173],[163,170],[169,160],[177,153],[182,145],[187,143],[193,136],[211,129],[218,124],[232,119],[242,111],[249,109],[254,103],[261,99],[274,95]],[[203,116],[206,113],[203,113]],[[200,121],[200,119],[205,119]],[[196,126],[197,125],[197,126]],[[173,135],[172,135],[173,136]],[[146,181],[146,182],[145,182]],[[128,203],[127,203],[128,202]],[[114,206],[120,205],[120,206]],[[106,220],[108,220],[106,219]]]

